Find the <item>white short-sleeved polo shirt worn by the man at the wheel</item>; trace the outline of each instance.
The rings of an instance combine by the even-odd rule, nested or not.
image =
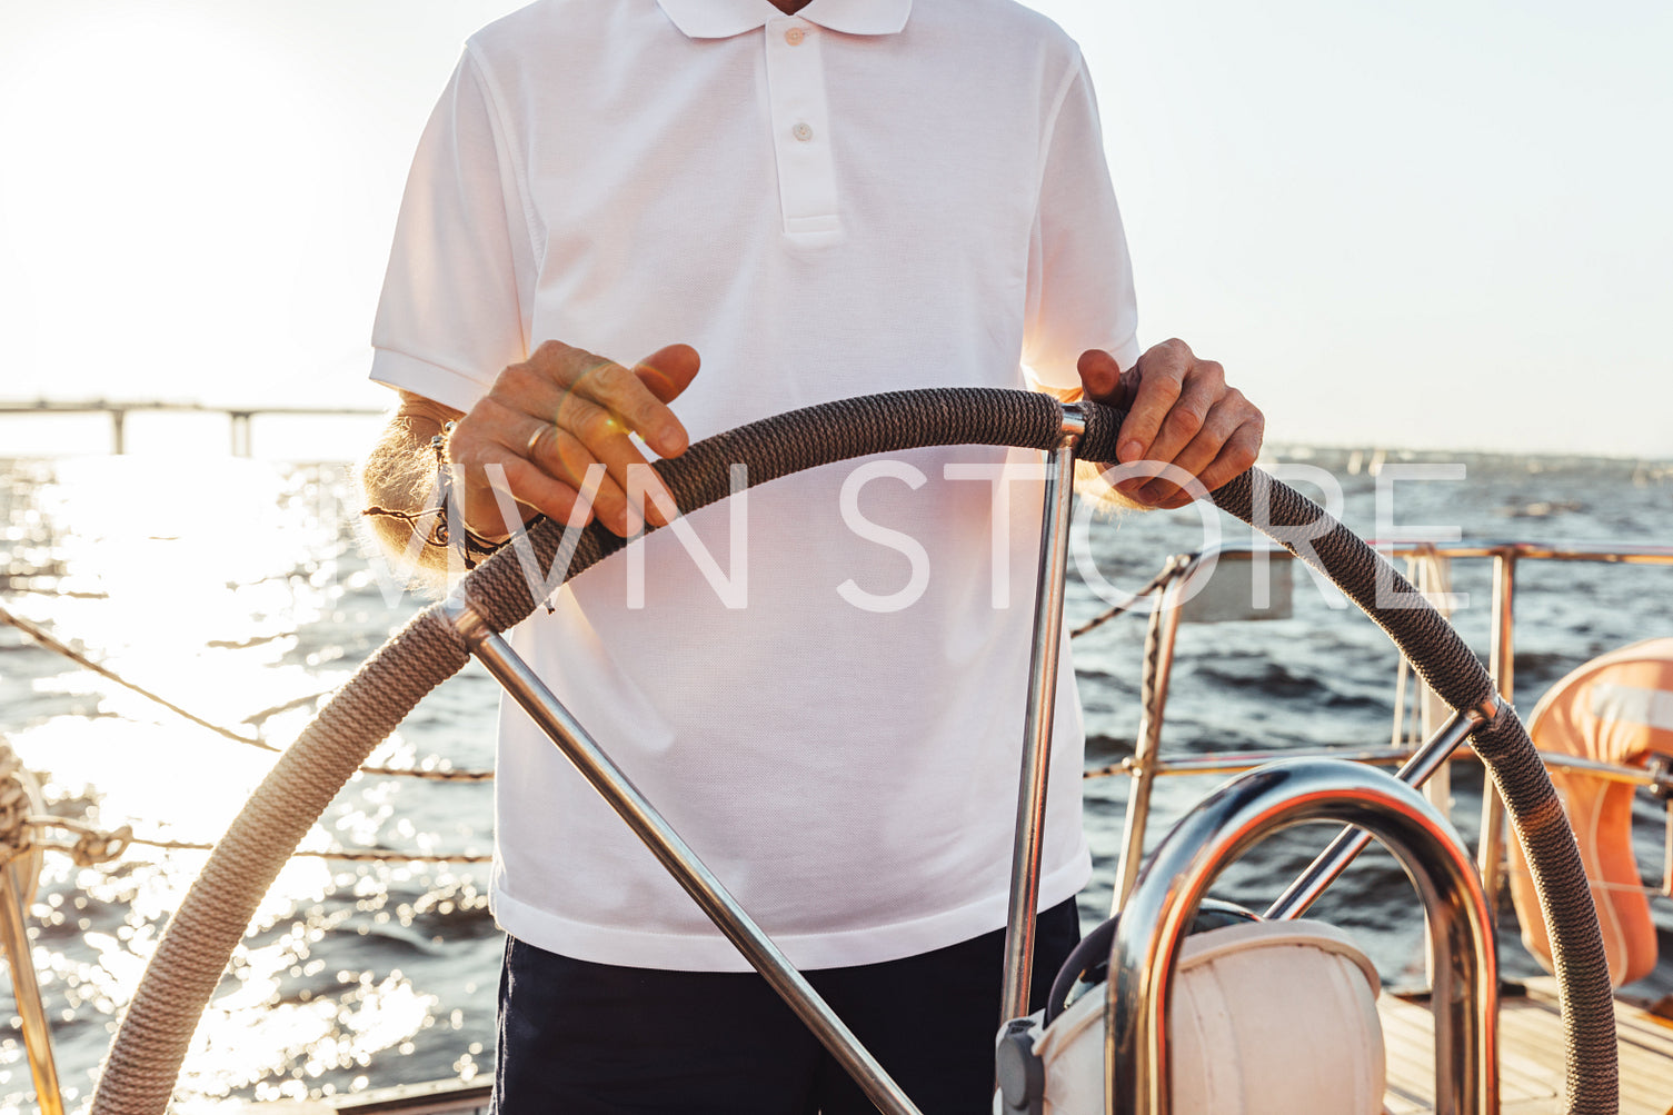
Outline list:
[[[463,410],[547,338],[694,345],[693,439],[1024,365],[1076,385],[1086,348],[1131,367],[1079,50],[1009,0],[545,0],[487,27],[418,146],[371,375]],[[918,450],[763,486],[514,631],[803,968],[1004,924],[1039,539],[1039,484],[984,474],[1007,459],[1039,462]],[[1066,665],[1042,907],[1089,874],[1081,743]],[[512,707],[495,824],[509,933],[746,968]]]

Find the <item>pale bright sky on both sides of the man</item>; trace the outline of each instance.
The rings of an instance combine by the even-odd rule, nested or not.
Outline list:
[[[383,405],[413,144],[515,7],[0,3],[0,400]],[[1092,69],[1141,340],[1270,442],[1673,459],[1673,5],[1032,7]]]

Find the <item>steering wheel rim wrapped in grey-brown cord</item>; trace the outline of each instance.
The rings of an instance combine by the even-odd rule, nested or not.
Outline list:
[[[1099,405],[1086,405],[1084,412],[1079,455],[1114,460],[1124,415]],[[1044,395],[930,388],[847,398],[765,419],[698,442],[681,457],[659,460],[654,467],[681,512],[691,512],[729,496],[733,464],[744,464],[750,484],[756,486],[870,454],[927,445],[1046,450],[1061,437],[1062,408]],[[1492,701],[1491,678],[1445,619],[1422,604],[1387,561],[1312,501],[1253,469],[1213,499],[1246,522],[1255,522],[1256,511],[1270,511],[1260,516],[1266,521],[1255,526],[1335,581],[1454,708]],[[542,522],[529,532],[539,569],[552,566],[560,541],[557,522]],[[599,524],[589,526],[581,532],[567,571],[554,574],[549,588],[622,546],[621,537]],[[1407,606],[1379,608],[1379,586],[1412,596],[1404,598]],[[537,603],[514,547],[465,576],[455,596],[494,631],[515,626]],[[467,658],[440,604],[427,608],[361,665],[279,757],[169,921],[110,1046],[94,1095],[94,1115],[166,1110],[197,1018],[284,861],[371,748]],[[1514,712],[1502,708],[1472,738],[1529,850],[1559,956],[1569,1112],[1609,1115],[1618,1110],[1613,991],[1578,847]]]

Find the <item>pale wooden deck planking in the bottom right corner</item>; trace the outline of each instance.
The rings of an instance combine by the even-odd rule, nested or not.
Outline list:
[[[1563,1023],[1556,979],[1529,979],[1526,994],[1499,1003],[1499,1112],[1561,1115]],[[1427,1003],[1394,994],[1377,1001],[1389,1056],[1389,1115],[1432,1112],[1434,1020]],[[1673,1115],[1673,1020],[1614,1001],[1621,1043],[1621,1115]]]

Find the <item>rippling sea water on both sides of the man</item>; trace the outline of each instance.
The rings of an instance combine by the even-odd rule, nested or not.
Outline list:
[[[1276,459],[1300,465],[1293,472],[1310,494],[1340,497],[1345,521],[1363,534],[1673,542],[1673,467],[1665,464],[1338,450]],[[1086,551],[1071,571],[1071,624],[1108,606],[1099,583],[1136,589],[1169,554],[1210,541],[1208,524],[1223,527],[1226,541],[1243,537],[1236,524],[1198,509],[1079,514]],[[336,464],[166,455],[0,462],[0,526],[7,609],[204,722],[278,747],[423,603],[366,558],[350,474]],[[1248,568],[1228,563],[1228,574],[1248,576]],[[1469,596],[1456,623],[1486,653],[1487,566],[1461,561],[1450,574],[1452,591]],[[1290,576],[1287,618],[1181,626],[1164,753],[1389,743],[1392,646],[1305,573]],[[1522,563],[1519,707],[1531,710],[1588,658],[1673,635],[1670,589],[1666,568]],[[1074,646],[1094,768],[1133,752],[1143,611]],[[497,700],[494,681],[468,666],[373,762],[485,770]],[[1021,733],[1022,710],[1010,715]],[[105,829],[130,824],[157,842],[216,840],[273,762],[5,624],[0,733],[40,772],[52,812]],[[1221,780],[1159,780],[1149,844]],[[1471,840],[1479,787],[1479,770],[1456,768],[1454,819]],[[1128,790],[1124,777],[1086,785],[1097,869],[1081,901],[1087,926],[1108,914]],[[492,849],[490,795],[489,782],[358,775],[304,847],[385,847],[423,861],[293,859],[199,1026],[182,1093],[202,1103],[304,1098],[490,1071],[504,938],[487,909],[487,866],[472,862]],[[1660,807],[1640,795],[1636,847],[1651,882],[1661,877],[1661,824]],[[1216,892],[1265,907],[1328,835],[1308,825],[1273,837],[1228,871]],[[87,1103],[114,1021],[202,862],[199,850],[144,844],[95,867],[47,854],[28,914],[72,1108]],[[1350,929],[1385,983],[1412,986],[1424,966],[1417,909],[1394,861],[1372,850],[1313,912]],[[1631,988],[1646,996],[1673,991],[1673,904],[1653,909],[1663,961]],[[1501,917],[1506,974],[1537,974],[1516,943],[1507,901]],[[8,1016],[8,989],[0,989],[0,1020]],[[0,1040],[0,1113],[32,1107],[17,1033],[13,1018]]]

